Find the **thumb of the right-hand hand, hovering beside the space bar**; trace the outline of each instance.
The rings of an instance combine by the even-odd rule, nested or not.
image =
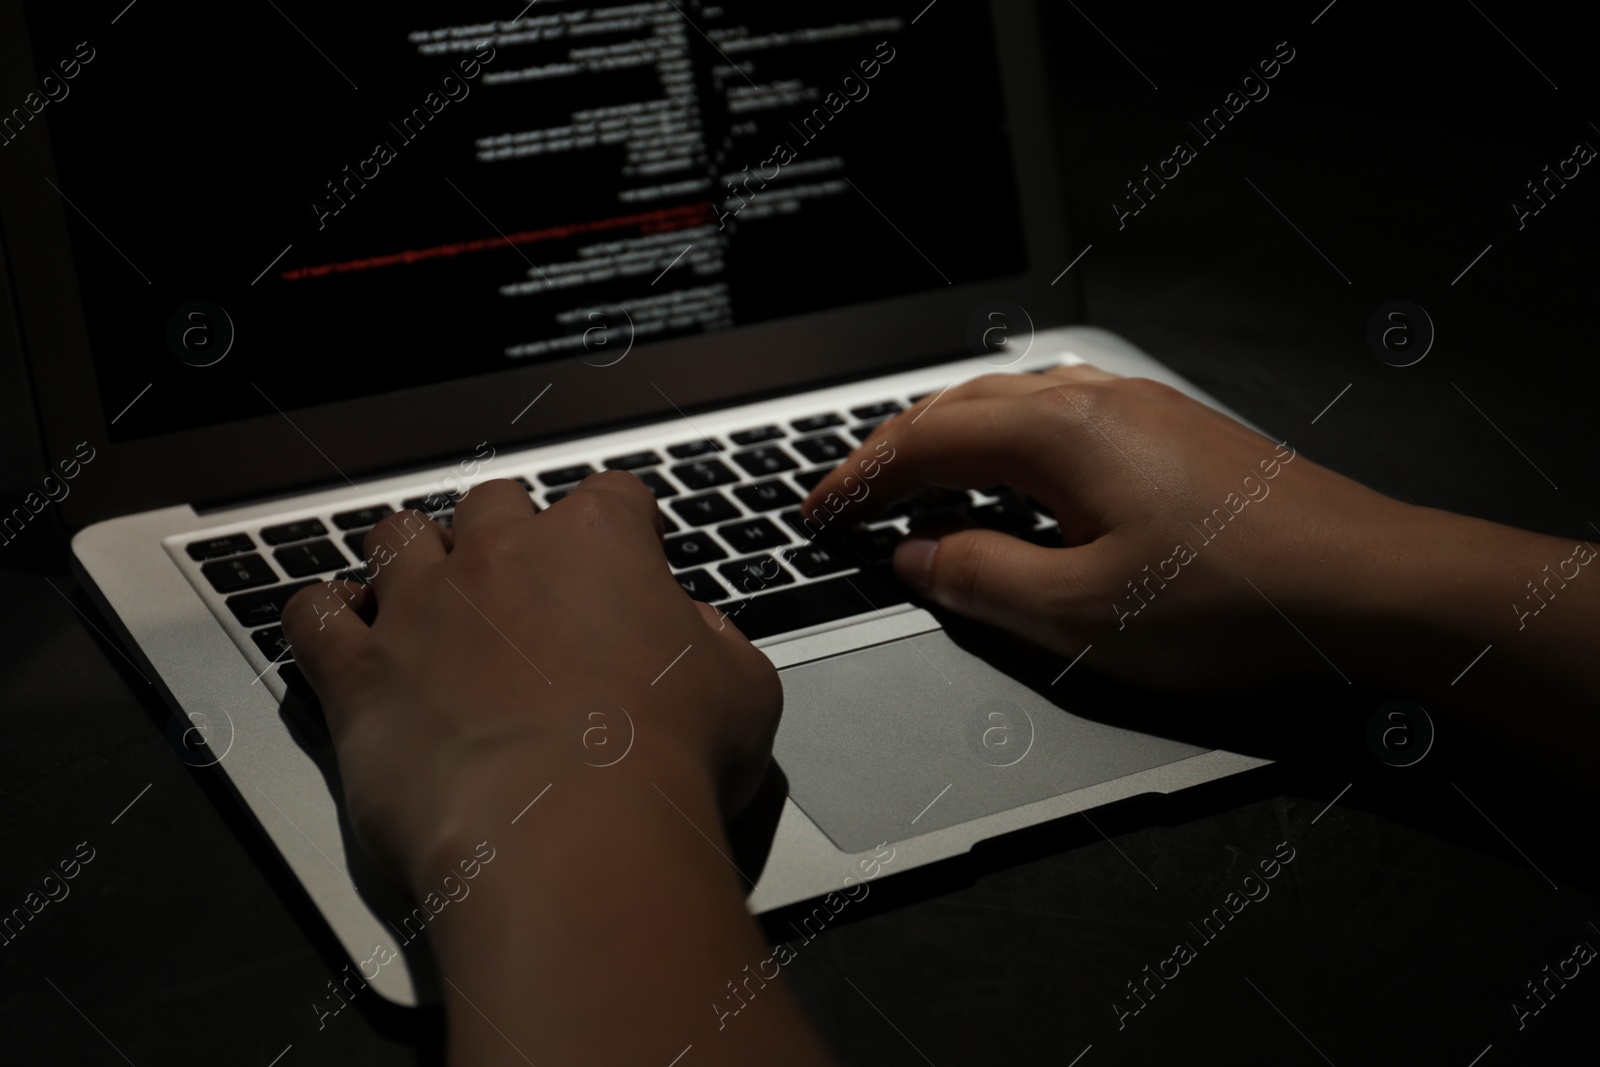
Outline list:
[[[1069,552],[1080,549],[994,530],[912,531],[894,549],[894,573],[936,605],[1050,645],[1066,622]]]

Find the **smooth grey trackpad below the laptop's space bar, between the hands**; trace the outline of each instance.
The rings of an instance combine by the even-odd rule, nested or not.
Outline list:
[[[942,630],[779,677],[789,795],[846,853],[1206,752],[1078,718]]]

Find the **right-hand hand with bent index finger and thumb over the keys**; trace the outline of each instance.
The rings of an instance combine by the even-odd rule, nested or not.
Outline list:
[[[869,491],[846,491],[869,456]],[[923,398],[824,478],[803,514],[845,526],[928,486],[997,483],[1048,506],[1066,547],[914,528],[894,552],[899,577],[1061,656],[1093,643],[1093,667],[1171,691],[1331,677],[1285,619],[1360,614],[1363,563],[1427,526],[1426,509],[1174,389],[1088,365],[987,374]]]

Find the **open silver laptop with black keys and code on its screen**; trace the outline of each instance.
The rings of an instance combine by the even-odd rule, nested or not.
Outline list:
[[[923,514],[1059,542],[1034,501],[798,522],[978,374],[1091,362],[1221,408],[1082,325],[1034,5],[515,6],[0,8],[0,334],[40,485],[176,753],[352,960],[397,958],[371,985],[432,998],[426,937],[341,821],[278,613],[486,478],[546,509],[632,470],[686,593],[778,665],[752,912],[1264,763],[1075,713],[1077,659],[1000,670],[893,579]]]

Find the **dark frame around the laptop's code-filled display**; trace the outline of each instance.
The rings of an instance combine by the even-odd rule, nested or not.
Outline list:
[[[715,334],[638,346],[598,368],[582,358],[109,443],[72,250],[54,179],[50,114],[0,154],[0,238],[32,376],[43,459],[96,450],[61,501],[69,530],[165,507],[293,494],[470,453],[525,446],[677,413],[971,355],[968,320],[989,301],[1027,310],[1038,330],[1078,322],[1056,138],[1034,0],[992,0],[1002,91],[1019,186],[1029,272],[856,304]],[[0,6],[0,99],[21,99],[35,67],[21,5]],[[109,45],[110,42],[107,42]],[[13,155],[14,154],[14,155]],[[6,158],[10,157],[10,158]],[[27,181],[35,176],[35,181]],[[917,181],[926,179],[918,171]],[[899,240],[885,227],[885,240]],[[549,387],[549,389],[547,389]],[[538,414],[512,418],[541,390]],[[693,430],[685,427],[693,437]],[[312,445],[315,442],[315,445]],[[334,466],[336,464],[336,466]]]

